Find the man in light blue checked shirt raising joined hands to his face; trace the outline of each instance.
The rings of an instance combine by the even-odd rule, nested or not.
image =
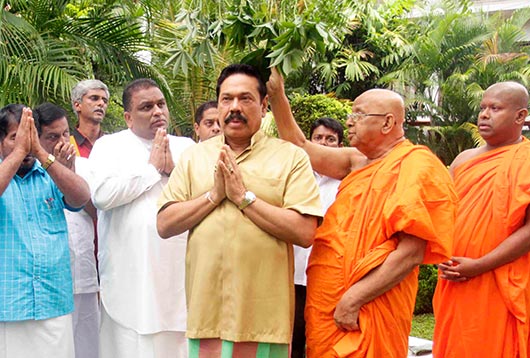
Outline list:
[[[63,209],[86,182],[42,148],[29,108],[0,109],[0,357],[72,357],[72,279]]]

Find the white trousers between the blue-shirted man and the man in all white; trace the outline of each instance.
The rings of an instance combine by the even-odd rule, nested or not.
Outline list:
[[[97,292],[74,295],[74,305],[75,358],[98,358],[100,312]]]

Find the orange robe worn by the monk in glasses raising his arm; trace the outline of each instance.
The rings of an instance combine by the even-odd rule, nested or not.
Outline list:
[[[307,269],[308,357],[407,356],[417,269],[361,308],[359,331],[339,330],[333,313],[346,290],[395,250],[395,233],[426,240],[425,263],[446,260],[456,201],[440,160],[409,141],[342,181],[317,230]]]

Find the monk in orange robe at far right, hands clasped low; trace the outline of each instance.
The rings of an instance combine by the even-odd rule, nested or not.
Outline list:
[[[451,164],[460,198],[454,257],[439,266],[436,357],[528,357],[530,142],[528,92],[494,84],[480,103],[484,146]]]

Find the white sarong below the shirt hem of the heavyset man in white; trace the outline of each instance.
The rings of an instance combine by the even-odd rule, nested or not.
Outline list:
[[[187,358],[185,332],[138,334],[114,321],[101,305],[101,358]]]

